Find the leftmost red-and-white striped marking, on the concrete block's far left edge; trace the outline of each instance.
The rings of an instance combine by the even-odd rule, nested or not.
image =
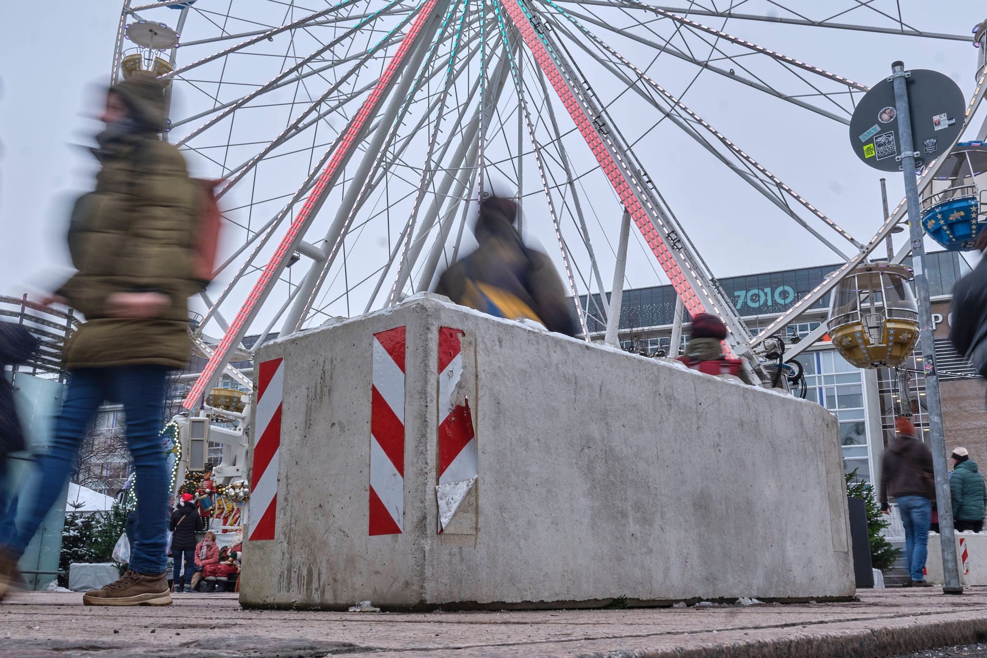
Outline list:
[[[281,449],[284,359],[263,361],[257,378],[254,466],[251,474],[251,525],[248,540],[274,539],[277,514],[277,462]]]

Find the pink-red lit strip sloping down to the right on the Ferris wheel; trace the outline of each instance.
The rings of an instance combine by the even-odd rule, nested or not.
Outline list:
[[[651,218],[645,212],[645,207],[632,191],[631,184],[628,183],[624,174],[620,171],[620,167],[614,161],[610,151],[604,146],[599,133],[596,132],[596,129],[589,121],[589,117],[586,116],[585,111],[583,111],[583,108],[572,94],[569,84],[563,79],[562,73],[556,67],[552,56],[545,48],[545,44],[535,34],[530,21],[528,21],[516,0],[504,0],[502,6],[507,10],[510,20],[514,23],[514,27],[521,33],[521,37],[524,38],[524,42],[531,49],[535,61],[538,62],[538,65],[546,77],[548,77],[549,82],[552,83],[552,87],[556,90],[563,105],[566,106],[566,110],[569,111],[569,115],[575,122],[583,139],[586,140],[586,144],[593,152],[596,161],[600,164],[610,184],[613,185],[624,206],[631,213],[631,217],[634,218],[635,223],[638,225],[638,229],[641,231],[641,235],[644,236],[647,246],[651,248],[651,252],[658,259],[661,268],[668,275],[668,279],[671,281],[672,287],[675,288],[675,292],[682,298],[682,303],[685,305],[686,310],[693,316],[703,313],[706,310],[703,301],[693,290],[692,284],[682,271],[682,268],[679,267],[675,258],[665,246],[665,243],[661,240],[658,230],[654,227]]]

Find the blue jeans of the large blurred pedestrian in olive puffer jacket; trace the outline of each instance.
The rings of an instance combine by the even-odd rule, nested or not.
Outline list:
[[[159,574],[168,566],[168,469],[158,438],[163,422],[168,368],[153,365],[79,368],[71,372],[65,400],[55,421],[51,449],[38,457],[35,491],[16,529],[0,530],[0,547],[16,556],[24,553],[38,526],[65,486],[79,444],[97,409],[105,401],[119,402],[126,414],[126,439],[137,475],[137,517],[140,523],[130,547],[130,569]],[[64,504],[63,502],[61,504]]]

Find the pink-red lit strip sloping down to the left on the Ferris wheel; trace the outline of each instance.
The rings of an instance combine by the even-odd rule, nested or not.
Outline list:
[[[418,12],[418,16],[415,18],[415,22],[408,31],[408,35],[402,39],[401,45],[398,47],[398,51],[394,53],[391,57],[391,61],[388,62],[387,68],[384,70],[383,75],[381,75],[380,80],[377,85],[370,92],[370,96],[363,102],[360,110],[356,112],[350,120],[349,125],[346,127],[346,132],[342,136],[342,140],[336,143],[336,151],[333,153],[332,159],[326,165],[326,169],[323,170],[322,176],[319,177],[318,183],[309,192],[308,198],[305,200],[305,205],[302,209],[298,211],[295,219],[291,222],[291,226],[288,231],[281,238],[281,243],[277,246],[277,250],[274,255],[270,257],[267,262],[264,271],[261,272],[261,276],[258,277],[257,283],[254,284],[254,289],[251,290],[250,295],[244,301],[244,305],[240,307],[240,312],[237,314],[236,319],[230,323],[229,329],[226,329],[226,333],[223,335],[223,339],[219,341],[216,346],[216,350],[209,357],[209,362],[205,365],[202,370],[202,374],[198,376],[195,380],[195,386],[192,387],[189,395],[186,397],[185,402],[182,405],[187,409],[192,409],[195,406],[196,401],[199,396],[205,391],[205,387],[209,385],[212,381],[212,377],[216,370],[219,368],[219,364],[223,361],[226,353],[229,352],[230,347],[234,342],[239,340],[238,334],[240,329],[243,328],[244,324],[250,318],[254,311],[254,307],[257,305],[258,301],[264,295],[267,284],[270,280],[275,277],[278,270],[278,266],[284,259],[284,256],[292,250],[292,245],[294,244],[295,238],[298,236],[302,228],[307,224],[309,219],[309,213],[312,208],[318,202],[319,197],[322,196],[323,191],[326,189],[326,185],[329,184],[330,180],[336,175],[336,171],[340,168],[343,160],[348,155],[350,147],[356,141],[356,137],[366,122],[367,118],[371,115],[371,112],[376,108],[377,104],[380,102],[384,95],[384,91],[390,83],[391,79],[394,77],[395,73],[401,68],[401,64],[408,54],[408,51],[415,44],[418,33],[424,26],[428,17],[432,13],[432,9],[435,7],[435,3],[438,0],[426,0],[424,5]]]

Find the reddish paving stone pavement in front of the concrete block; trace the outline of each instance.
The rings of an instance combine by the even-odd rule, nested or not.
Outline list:
[[[883,658],[987,640],[987,588],[864,590],[851,603],[537,612],[258,611],[232,594],[90,608],[81,598],[9,596],[0,656]]]

